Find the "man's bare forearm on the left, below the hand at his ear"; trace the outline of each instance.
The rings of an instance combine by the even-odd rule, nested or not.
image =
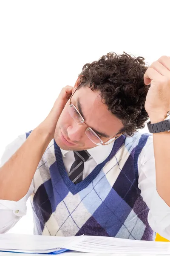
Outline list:
[[[38,163],[51,141],[42,124],[0,168],[0,199],[18,201],[31,185]]]

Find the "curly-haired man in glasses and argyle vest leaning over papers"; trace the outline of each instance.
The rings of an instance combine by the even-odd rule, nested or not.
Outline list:
[[[6,148],[0,232],[30,197],[34,234],[170,239],[168,111],[167,56],[149,68],[125,52],[85,64],[47,118]],[[153,136],[137,132],[148,117]]]

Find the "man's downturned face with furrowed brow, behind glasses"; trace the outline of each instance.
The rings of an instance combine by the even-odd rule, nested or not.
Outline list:
[[[71,99],[71,103],[79,110],[78,101],[82,108],[82,114],[88,127],[95,132],[98,131],[107,135],[100,136],[103,142],[115,136],[120,129],[123,128],[122,122],[108,111],[107,106],[102,103],[101,96],[96,90],[92,91],[89,87],[81,87],[78,89]],[[69,100],[63,109],[57,122],[54,139],[57,145],[64,150],[85,150],[94,148],[95,145],[85,134],[87,126],[85,123],[77,124],[68,112]],[[70,143],[65,143],[62,135]]]

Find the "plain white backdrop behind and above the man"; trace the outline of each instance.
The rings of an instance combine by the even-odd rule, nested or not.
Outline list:
[[[150,64],[170,56],[169,17],[168,0],[0,0],[0,155],[45,119],[85,63],[111,51]],[[29,203],[10,232],[33,233]]]

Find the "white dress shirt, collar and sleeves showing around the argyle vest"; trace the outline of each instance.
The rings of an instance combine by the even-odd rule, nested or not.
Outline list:
[[[0,166],[3,166],[25,140],[26,134],[23,134],[6,147],[1,158]],[[108,157],[112,147],[113,143],[88,149],[91,157],[84,163],[83,179],[85,179],[99,163],[102,163]],[[62,149],[61,152],[65,169],[69,173],[71,165],[75,160],[74,153],[73,151],[65,151]],[[156,191],[156,172],[152,136],[148,138],[146,145],[139,155],[138,171],[138,187],[141,190],[143,200],[150,209],[148,214],[150,227],[164,238],[170,240],[170,207],[167,206]],[[26,202],[33,192],[34,183],[32,181],[27,194],[19,201],[0,200],[0,233],[7,232],[23,215],[26,215]]]

